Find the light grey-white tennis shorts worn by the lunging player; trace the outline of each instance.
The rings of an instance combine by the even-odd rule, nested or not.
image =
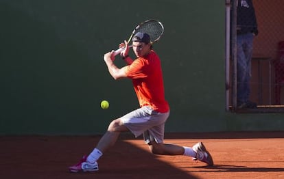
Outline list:
[[[150,141],[163,143],[165,122],[168,117],[169,112],[159,113],[152,107],[145,106],[123,115],[120,119],[135,137],[143,134],[145,143]]]

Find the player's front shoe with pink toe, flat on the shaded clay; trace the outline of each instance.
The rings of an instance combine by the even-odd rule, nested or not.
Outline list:
[[[95,163],[88,163],[86,161],[86,156],[83,156],[83,158],[75,165],[69,167],[69,171],[73,173],[77,173],[79,171],[97,171],[99,170],[99,165],[97,162]]]

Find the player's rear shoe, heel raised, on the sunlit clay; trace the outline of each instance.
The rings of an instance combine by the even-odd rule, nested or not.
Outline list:
[[[206,150],[202,142],[196,143],[196,145],[192,147],[192,150],[196,152],[196,157],[193,157],[193,161],[202,161],[208,166],[214,165],[211,154]]]

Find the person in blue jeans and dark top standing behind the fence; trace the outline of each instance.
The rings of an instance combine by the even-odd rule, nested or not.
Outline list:
[[[237,107],[257,108],[250,98],[252,41],[257,36],[252,0],[237,0]]]

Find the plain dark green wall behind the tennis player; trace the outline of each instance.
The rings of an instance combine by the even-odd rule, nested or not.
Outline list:
[[[113,80],[103,55],[150,18],[165,25],[154,49],[171,106],[167,132],[284,128],[281,114],[225,111],[224,0],[0,0],[0,13],[0,135],[100,134],[136,109],[131,81]]]

